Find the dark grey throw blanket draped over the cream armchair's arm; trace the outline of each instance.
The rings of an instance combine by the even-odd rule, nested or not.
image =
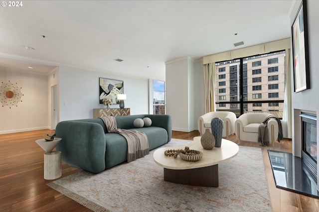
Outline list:
[[[259,125],[259,128],[258,128],[258,142],[261,143],[262,146],[269,146],[269,137],[268,137],[268,128],[267,128],[267,123],[269,119],[276,119],[278,123],[278,138],[277,138],[278,142],[280,142],[280,140],[283,139],[283,127],[281,125],[280,119],[275,115],[269,115]],[[275,137],[275,141],[276,141],[276,137]]]

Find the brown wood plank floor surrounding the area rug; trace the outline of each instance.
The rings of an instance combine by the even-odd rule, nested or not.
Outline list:
[[[43,154],[35,140],[51,130],[36,130],[0,135],[0,212],[87,212],[75,201],[51,189],[43,179]],[[192,140],[199,136],[197,130],[185,133],[173,131],[172,137]],[[265,170],[274,212],[318,212],[319,200],[277,189],[273,178],[267,149],[291,152],[292,143],[284,139],[275,147],[260,147],[255,142],[238,142],[232,135],[229,140],[241,146],[262,148]],[[62,177],[79,172],[62,162]],[[256,209],[258,211],[258,209]]]

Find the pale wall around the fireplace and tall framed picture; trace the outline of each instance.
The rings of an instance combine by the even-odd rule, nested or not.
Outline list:
[[[294,12],[291,15],[291,25],[297,14],[301,1],[296,2]],[[293,77],[293,63],[292,67],[292,117],[293,117],[293,154],[301,157],[301,119],[299,114],[302,111],[310,111],[319,114],[319,72],[318,72],[318,58],[319,58],[319,1],[308,0],[307,1],[307,13],[308,13],[308,39],[309,39],[309,63],[310,63],[310,90],[306,90],[299,93],[294,93],[294,77]],[[293,57],[291,57],[293,60]],[[317,127],[317,135],[319,135],[319,127]],[[317,137],[317,142],[319,138]],[[319,145],[317,146],[317,152],[319,152]],[[317,164],[317,170],[319,171],[319,163]],[[317,177],[319,182],[319,175]],[[317,186],[318,187],[318,186]],[[319,187],[318,187],[319,188]]]

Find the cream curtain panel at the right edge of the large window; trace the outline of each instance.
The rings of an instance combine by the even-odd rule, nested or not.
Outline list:
[[[292,138],[292,110],[291,110],[291,69],[290,49],[286,49],[286,86],[284,99],[283,121],[287,123],[287,138]]]

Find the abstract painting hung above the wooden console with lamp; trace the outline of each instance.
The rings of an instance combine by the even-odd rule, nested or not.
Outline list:
[[[118,94],[124,94],[124,82],[120,80],[112,80],[106,78],[99,78],[100,86],[100,104],[103,104],[104,99],[108,99],[112,104],[120,104],[117,100]]]

